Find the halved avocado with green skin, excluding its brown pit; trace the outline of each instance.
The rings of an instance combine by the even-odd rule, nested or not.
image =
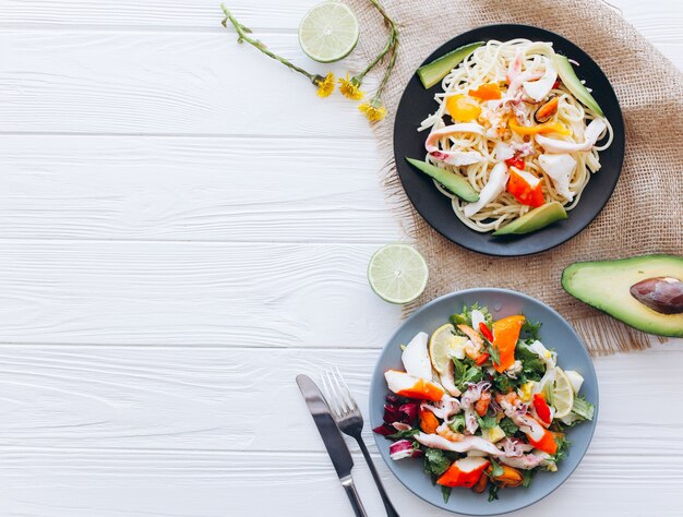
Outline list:
[[[656,311],[632,293],[633,286],[659,278],[683,280],[683,256],[644,255],[577,262],[562,273],[562,287],[573,297],[638,330],[683,337],[683,313]]]

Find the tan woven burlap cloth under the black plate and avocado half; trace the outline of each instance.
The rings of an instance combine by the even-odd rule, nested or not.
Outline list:
[[[376,56],[386,41],[368,0],[348,0],[361,24],[360,53]],[[430,267],[424,293],[406,308],[470,287],[504,287],[558,310],[595,354],[647,348],[648,336],[578,302],[560,285],[576,261],[683,251],[683,74],[600,0],[383,0],[400,25],[400,51],[383,96],[390,117],[375,125],[390,203]],[[392,148],[393,116],[420,62],[459,33],[494,23],[554,31],[602,68],[626,122],[626,156],[610,202],[582,233],[554,250],[523,257],[490,257],[451,243],[412,208],[398,180]],[[383,70],[378,73],[382,73]],[[454,224],[455,224],[454,216]]]

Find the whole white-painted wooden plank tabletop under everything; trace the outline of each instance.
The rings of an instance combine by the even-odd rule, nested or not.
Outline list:
[[[314,2],[229,3],[307,62]],[[683,68],[678,2],[612,2]],[[351,515],[293,377],[337,364],[364,406],[399,323],[366,265],[400,231],[352,105],[217,3],[0,0],[3,517]],[[682,515],[683,344],[596,368],[592,446],[524,515]],[[402,515],[445,515],[376,459]]]

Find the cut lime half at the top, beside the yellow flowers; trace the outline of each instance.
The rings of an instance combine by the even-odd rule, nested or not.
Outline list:
[[[323,2],[311,9],[299,25],[299,45],[321,63],[346,58],[358,43],[360,28],[351,9],[339,2]]]

